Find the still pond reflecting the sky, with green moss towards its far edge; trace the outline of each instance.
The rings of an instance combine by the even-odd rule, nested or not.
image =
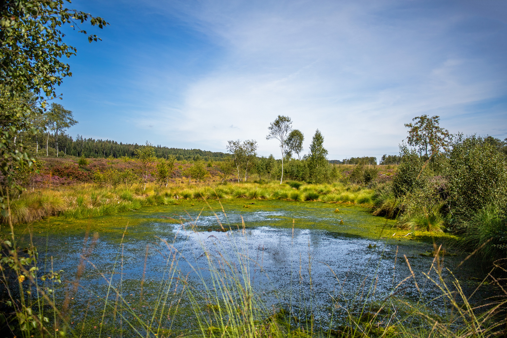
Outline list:
[[[256,299],[266,309],[311,309],[317,321],[327,320],[336,310],[334,303],[350,308],[354,299],[359,302],[359,296],[369,302],[384,299],[411,276],[411,269],[417,285],[410,278],[396,290],[402,290],[410,302],[427,302],[440,294],[422,274],[428,273],[434,262],[428,254],[433,243],[411,240],[408,231],[400,232],[393,226],[392,220],[355,205],[183,201],[85,220],[50,218],[32,224],[30,230],[18,227],[18,245],[28,245],[30,231],[46,271],[51,259],[54,271],[63,270],[62,280],[70,284],[60,286],[62,302],[65,285],[80,285],[69,300],[74,325],[86,322],[85,330],[93,332],[94,326],[97,329],[108,322],[107,329],[114,332],[119,324],[110,318],[111,309],[108,315],[100,315],[106,296],[118,304],[118,291],[125,299],[123,306],[137,307],[132,313],[149,316],[161,290],[168,288],[168,273],[185,279],[197,296],[216,290],[216,285],[211,285],[210,261],[216,271],[237,269],[242,278],[246,271]],[[434,240],[440,245],[443,239],[445,236]],[[448,254],[443,265],[457,273],[465,292],[471,292],[484,273],[473,259],[464,269],[456,269],[464,257],[459,252]],[[224,261],[234,268],[227,268]],[[445,269],[443,274],[448,276]],[[437,277],[434,273],[430,276]],[[174,279],[170,286],[181,309],[180,316],[172,318],[176,320],[173,326],[192,327],[192,302],[187,293],[176,294],[177,283]],[[67,290],[67,298],[68,294]],[[368,297],[362,296],[365,294]]]

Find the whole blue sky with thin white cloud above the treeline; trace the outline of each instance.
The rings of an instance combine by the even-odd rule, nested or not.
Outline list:
[[[397,154],[415,116],[452,133],[507,137],[507,2],[96,1],[105,18],[70,58],[71,136],[225,151],[266,140],[277,115],[318,128],[329,159]]]

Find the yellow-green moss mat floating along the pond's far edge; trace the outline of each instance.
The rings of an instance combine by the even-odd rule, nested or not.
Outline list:
[[[296,192],[296,191],[295,191]],[[374,216],[370,209],[356,206],[353,204],[342,204],[340,211],[335,212],[336,205],[328,203],[310,203],[297,201],[281,200],[258,200],[255,204],[245,204],[244,200],[180,200],[179,204],[157,205],[144,207],[138,211],[132,211],[128,208],[126,212],[107,215],[110,210],[103,208],[95,214],[81,215],[84,218],[70,219],[65,216],[52,216],[44,221],[34,222],[30,225],[34,234],[60,234],[82,236],[86,229],[90,232],[98,233],[118,233],[121,238],[125,226],[132,229],[137,226],[144,226],[154,223],[177,224],[190,220],[189,215],[196,219],[201,217],[214,216],[222,214],[222,207],[227,215],[243,215],[245,226],[251,227],[279,227],[296,229],[314,229],[324,230],[329,233],[360,236],[369,239],[384,239],[387,242],[405,242],[419,241],[432,243],[433,240],[457,242],[458,237],[449,233],[429,233],[418,232],[411,233],[409,230],[395,229],[395,221],[383,217]],[[245,208],[244,206],[248,207]],[[122,207],[122,210],[127,206]],[[257,216],[259,212],[269,212],[262,217]],[[187,214],[188,213],[188,214]],[[294,223],[293,223],[294,220]],[[341,223],[343,220],[343,224]],[[224,227],[236,229],[242,227],[241,222],[231,222],[224,224]],[[19,224],[16,228],[27,232],[26,224]],[[202,229],[201,229],[202,228]],[[143,227],[144,229],[144,227]],[[149,228],[146,228],[149,229]],[[203,224],[200,226],[197,221],[198,231],[207,231],[209,226]],[[213,228],[214,229],[214,228]],[[7,227],[2,228],[2,232],[7,232]],[[142,236],[147,233],[144,230]],[[135,230],[129,231],[130,237],[135,236]],[[139,234],[141,236],[141,234]]]

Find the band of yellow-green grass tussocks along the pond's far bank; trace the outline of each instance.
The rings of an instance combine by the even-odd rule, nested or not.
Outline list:
[[[15,224],[39,221],[54,215],[69,218],[113,215],[118,212],[136,211],[142,207],[177,203],[176,196],[185,200],[278,199],[356,203],[369,206],[374,194],[373,191],[357,184],[299,183],[301,182],[291,181],[280,185],[274,182],[263,184],[243,182],[216,186],[175,183],[168,187],[148,183],[146,189],[144,185],[118,186],[115,189],[90,183],[62,185],[24,192],[19,198],[11,201],[11,215]],[[2,216],[2,221],[7,223],[7,218]]]

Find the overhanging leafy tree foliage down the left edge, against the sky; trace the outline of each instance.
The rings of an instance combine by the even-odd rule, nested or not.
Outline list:
[[[76,49],[62,43],[64,34],[59,27],[88,19],[100,28],[107,23],[87,13],[66,9],[61,0],[4,1],[0,13],[0,120],[3,131],[0,171],[7,181],[0,203],[6,216],[5,188],[16,188],[21,192],[23,188],[14,176],[33,162],[24,144],[15,142],[20,131],[37,133],[37,129],[30,125],[35,119],[29,118],[35,109],[33,92],[39,95],[44,108],[46,97],[56,97],[55,86],[61,84],[63,77],[71,76],[68,64],[62,63],[60,58],[70,57]],[[80,32],[86,34],[84,30]],[[96,41],[97,37],[89,35],[88,39]]]

